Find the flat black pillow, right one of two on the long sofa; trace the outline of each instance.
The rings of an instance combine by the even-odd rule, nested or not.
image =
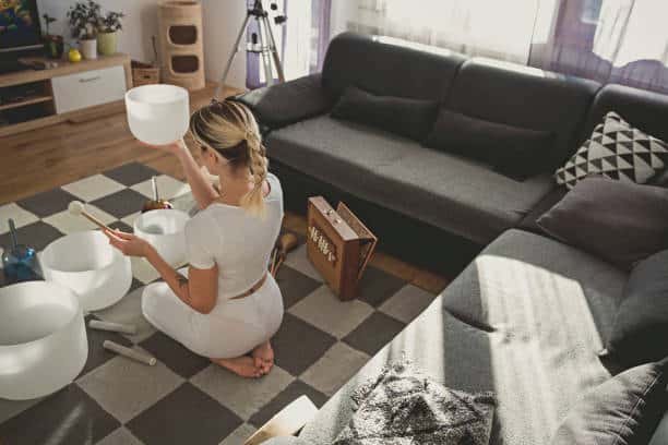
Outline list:
[[[552,133],[441,109],[425,145],[480,160],[523,180],[547,169],[545,154],[551,148]]]

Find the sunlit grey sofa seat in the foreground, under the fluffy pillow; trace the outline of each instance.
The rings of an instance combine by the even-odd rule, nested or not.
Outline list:
[[[355,388],[405,357],[448,387],[494,392],[492,445],[547,445],[582,394],[611,375],[597,352],[623,281],[622,273],[586,254],[508,231],[350,378],[300,436],[331,443],[350,420]],[[453,292],[464,288],[472,299],[485,296],[491,326],[448,311]]]

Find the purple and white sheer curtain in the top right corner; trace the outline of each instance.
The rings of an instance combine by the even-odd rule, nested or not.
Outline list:
[[[668,1],[563,0],[529,63],[668,93]]]

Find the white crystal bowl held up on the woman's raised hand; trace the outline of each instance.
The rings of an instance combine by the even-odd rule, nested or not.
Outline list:
[[[151,145],[178,141],[188,132],[188,91],[176,85],[143,85],[126,93],[130,131]]]

